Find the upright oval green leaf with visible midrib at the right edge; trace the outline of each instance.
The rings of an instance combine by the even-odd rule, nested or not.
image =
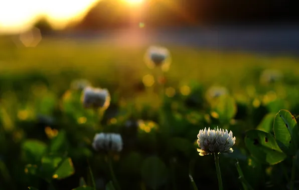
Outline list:
[[[295,155],[298,147],[298,126],[295,117],[281,109],[274,118],[274,136],[279,147],[288,155]]]

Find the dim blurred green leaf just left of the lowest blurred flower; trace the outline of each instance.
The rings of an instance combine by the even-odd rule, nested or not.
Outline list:
[[[67,139],[64,130],[60,130],[50,143],[51,153],[64,153],[67,150]]]

